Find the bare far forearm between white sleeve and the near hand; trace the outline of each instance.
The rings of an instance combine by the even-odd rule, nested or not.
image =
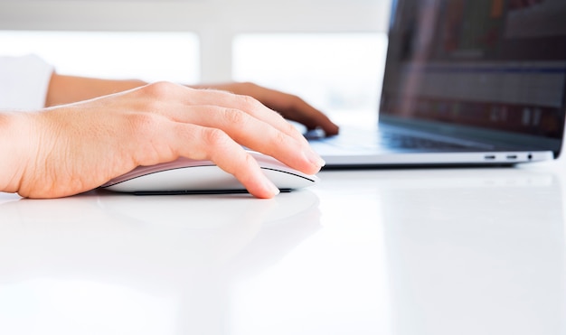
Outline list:
[[[53,73],[45,107],[98,98],[146,85],[143,80],[95,79]]]

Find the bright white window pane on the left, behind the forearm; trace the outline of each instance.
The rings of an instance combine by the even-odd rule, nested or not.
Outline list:
[[[200,80],[195,33],[0,31],[0,54],[29,53],[61,74],[183,84]]]

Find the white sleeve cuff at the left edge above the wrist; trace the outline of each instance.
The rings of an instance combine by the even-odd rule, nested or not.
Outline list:
[[[35,55],[0,56],[0,110],[44,107],[52,73],[52,65]]]

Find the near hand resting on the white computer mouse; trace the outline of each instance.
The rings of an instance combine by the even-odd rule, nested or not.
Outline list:
[[[37,113],[0,115],[0,191],[63,197],[138,165],[209,159],[259,198],[278,193],[241,145],[314,174],[324,162],[259,101],[160,82]],[[10,137],[6,137],[10,136]],[[2,179],[4,178],[4,180]]]

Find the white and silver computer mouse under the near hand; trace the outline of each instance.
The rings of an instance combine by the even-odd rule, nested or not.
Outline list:
[[[312,186],[316,175],[298,172],[273,157],[248,151],[259,167],[280,191]],[[247,192],[233,175],[224,172],[212,161],[179,158],[173,162],[138,166],[114,178],[101,189],[136,194],[199,194]]]

